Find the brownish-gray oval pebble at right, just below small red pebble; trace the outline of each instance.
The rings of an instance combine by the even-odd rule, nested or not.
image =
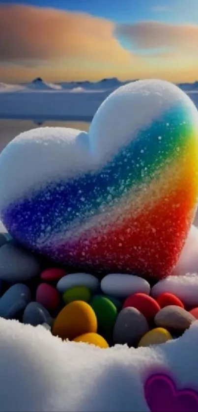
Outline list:
[[[165,329],[186,330],[196,318],[179,306],[165,306],[155,315],[154,322]]]

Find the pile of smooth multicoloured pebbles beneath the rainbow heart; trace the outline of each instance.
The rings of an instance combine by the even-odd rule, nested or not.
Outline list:
[[[164,343],[198,319],[198,307],[186,307],[174,294],[154,299],[153,284],[139,276],[98,277],[55,265],[1,233],[0,317],[101,348]]]

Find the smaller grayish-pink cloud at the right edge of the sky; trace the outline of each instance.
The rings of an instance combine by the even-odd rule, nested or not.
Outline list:
[[[116,35],[131,42],[134,50],[174,49],[183,55],[198,54],[198,25],[170,25],[160,22],[140,22],[119,25]]]

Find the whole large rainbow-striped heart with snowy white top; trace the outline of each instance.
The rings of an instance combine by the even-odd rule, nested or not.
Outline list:
[[[168,82],[120,87],[88,134],[38,128],[0,155],[7,230],[84,270],[170,275],[197,198],[198,112]]]

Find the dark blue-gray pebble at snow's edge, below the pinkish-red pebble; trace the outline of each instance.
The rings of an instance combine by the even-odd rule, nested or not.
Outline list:
[[[32,326],[42,325],[43,323],[51,325],[52,317],[43,305],[38,302],[30,302],[24,311],[23,323]]]

